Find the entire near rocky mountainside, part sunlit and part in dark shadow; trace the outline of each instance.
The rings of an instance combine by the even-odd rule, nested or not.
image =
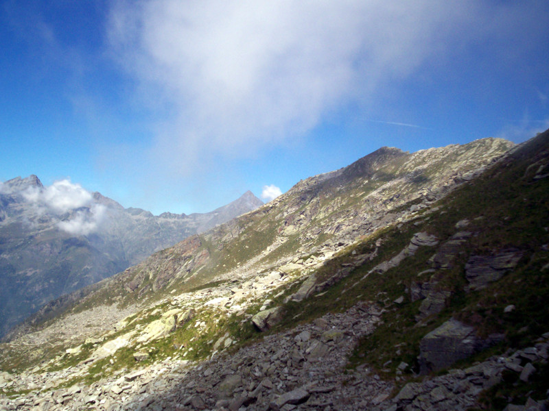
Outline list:
[[[549,131],[305,179],[45,306],[0,406],[542,410],[548,170]]]

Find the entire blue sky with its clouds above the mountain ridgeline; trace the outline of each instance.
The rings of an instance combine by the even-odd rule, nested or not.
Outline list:
[[[549,127],[549,2],[3,1],[0,181],[207,212]]]

